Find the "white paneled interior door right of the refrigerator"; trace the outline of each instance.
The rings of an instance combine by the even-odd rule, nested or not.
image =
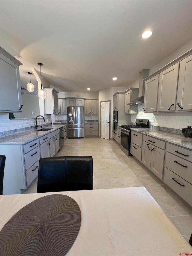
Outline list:
[[[110,101],[101,102],[101,138],[109,140]]]

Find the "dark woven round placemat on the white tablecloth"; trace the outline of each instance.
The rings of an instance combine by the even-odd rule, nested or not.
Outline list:
[[[65,255],[81,225],[78,204],[53,194],[29,203],[0,232],[0,255]]]

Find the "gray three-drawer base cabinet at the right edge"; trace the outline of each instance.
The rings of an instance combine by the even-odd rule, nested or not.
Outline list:
[[[167,143],[163,181],[192,206],[192,151]]]

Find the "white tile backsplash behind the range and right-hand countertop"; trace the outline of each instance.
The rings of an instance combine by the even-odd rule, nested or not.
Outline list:
[[[181,129],[192,126],[192,112],[177,113],[145,113],[144,104],[138,106],[138,113],[131,115],[131,122],[135,123],[136,118],[149,119],[149,124],[173,129]],[[188,121],[187,121],[188,120]]]

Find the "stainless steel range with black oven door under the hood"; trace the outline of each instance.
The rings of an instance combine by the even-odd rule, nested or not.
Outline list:
[[[130,153],[131,128],[149,128],[149,120],[136,119],[135,125],[121,126],[121,150],[128,156],[132,156],[132,154]]]

